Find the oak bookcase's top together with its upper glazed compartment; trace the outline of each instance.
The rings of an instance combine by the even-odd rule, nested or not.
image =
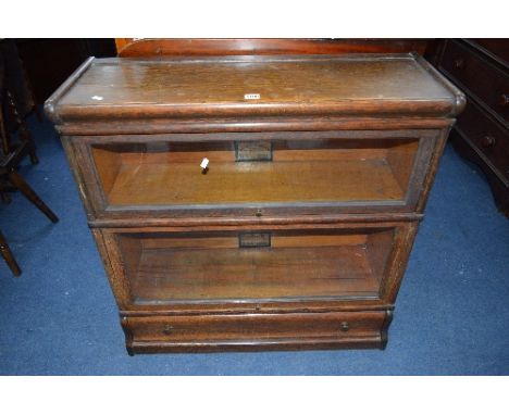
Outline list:
[[[46,112],[89,217],[133,223],[419,213],[463,104],[414,54],[179,56],[90,59]]]

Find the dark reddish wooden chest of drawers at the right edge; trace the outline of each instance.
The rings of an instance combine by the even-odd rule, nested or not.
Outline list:
[[[436,65],[467,95],[452,143],[482,168],[509,216],[509,39],[444,40]]]

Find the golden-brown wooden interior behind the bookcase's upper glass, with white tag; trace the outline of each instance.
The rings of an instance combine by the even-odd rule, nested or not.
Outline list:
[[[275,143],[271,161],[236,161],[233,143],[173,143],[159,151],[125,144],[92,153],[111,206],[404,200],[418,142],[378,141],[370,151],[340,142]],[[203,158],[210,160],[206,172]]]

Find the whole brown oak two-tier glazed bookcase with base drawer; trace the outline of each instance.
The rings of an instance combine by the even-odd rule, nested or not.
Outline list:
[[[194,56],[90,59],[46,112],[133,354],[384,348],[463,103],[415,54]]]

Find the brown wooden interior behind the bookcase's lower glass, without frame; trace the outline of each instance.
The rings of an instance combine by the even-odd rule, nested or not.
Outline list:
[[[150,303],[376,298],[392,234],[272,231],[271,246],[261,248],[239,248],[236,232],[136,234],[120,240],[133,297]]]

